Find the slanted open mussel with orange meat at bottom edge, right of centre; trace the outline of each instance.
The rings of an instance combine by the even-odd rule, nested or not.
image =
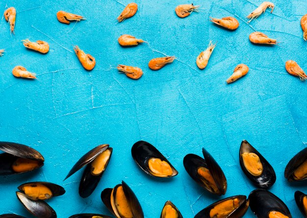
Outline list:
[[[245,195],[235,195],[209,205],[194,218],[241,218],[248,206],[249,200]]]

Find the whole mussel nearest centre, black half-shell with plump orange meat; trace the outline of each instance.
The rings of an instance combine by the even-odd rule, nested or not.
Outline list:
[[[150,143],[137,141],[131,148],[132,158],[147,174],[154,177],[173,177],[175,167]]]

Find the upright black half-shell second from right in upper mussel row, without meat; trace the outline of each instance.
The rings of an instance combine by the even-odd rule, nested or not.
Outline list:
[[[242,154],[245,152],[255,153],[259,157],[260,162],[263,167],[263,171],[261,175],[254,176],[246,169],[243,163],[243,159],[242,159]],[[267,160],[265,160],[265,158],[247,140],[243,140],[241,142],[239,158],[240,158],[240,166],[243,172],[245,173],[247,178],[249,178],[256,186],[262,189],[267,189],[273,186],[273,184],[276,181],[276,174],[275,174],[273,167],[271,166],[271,164],[269,164],[269,162],[267,162]]]

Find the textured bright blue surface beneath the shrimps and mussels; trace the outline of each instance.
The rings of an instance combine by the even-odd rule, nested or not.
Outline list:
[[[119,2],[120,1],[120,2]],[[193,2],[199,13],[180,19],[174,9],[186,1],[136,0],[133,18],[117,23],[129,0],[1,0],[17,10],[15,35],[0,22],[0,139],[29,145],[45,157],[43,168],[0,178],[0,213],[30,217],[18,202],[17,187],[30,181],[62,185],[66,194],[49,200],[59,218],[77,213],[108,214],[100,193],[121,180],[128,183],[143,207],[146,218],[157,218],[167,200],[183,217],[191,218],[223,197],[248,195],[255,187],[242,173],[238,151],[247,139],[273,165],[277,182],[270,191],[301,218],[294,191],[307,192],[306,184],[289,184],[283,178],[287,162],[307,143],[307,84],[288,75],[285,61],[293,59],[307,71],[307,42],[300,27],[307,13],[306,0],[274,0],[273,14],[266,11],[247,25],[246,16],[261,0]],[[61,24],[56,12],[65,10],[87,20]],[[240,27],[228,31],[209,22],[209,16],[234,16]],[[257,46],[248,36],[261,30],[280,43]],[[149,45],[122,48],[117,38],[131,34]],[[27,50],[23,39],[44,40],[48,54]],[[199,70],[195,60],[209,40],[217,43],[208,66]],[[78,45],[97,61],[85,71],[73,53]],[[159,71],[147,64],[154,57],[175,55],[177,60]],[[242,79],[225,80],[239,63],[250,67]],[[138,81],[119,74],[117,64],[141,67]],[[38,80],[14,78],[16,65],[37,73]],[[156,146],[178,169],[171,179],[155,179],[133,162],[130,148],[138,140]],[[71,167],[98,144],[113,147],[111,161],[96,191],[78,196],[82,170],[63,182]],[[185,172],[183,157],[202,155],[205,147],[225,172],[228,190],[223,197],[207,194]],[[254,215],[249,210],[247,218]]]

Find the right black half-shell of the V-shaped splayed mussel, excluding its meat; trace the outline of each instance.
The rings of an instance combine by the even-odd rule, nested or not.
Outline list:
[[[111,158],[112,151],[113,151],[113,149],[110,148],[110,147],[107,148],[107,149],[111,152],[111,154],[110,154],[108,161],[105,164],[104,170],[106,169],[106,167],[109,163],[109,160]],[[105,150],[107,150],[107,149],[105,149]],[[92,165],[87,164],[87,166],[86,166],[86,168],[83,172],[80,184],[79,184],[79,195],[83,198],[88,197],[93,193],[93,191],[96,189],[96,187],[97,187],[97,185],[98,185],[98,183],[99,183],[99,181],[102,177],[102,174],[104,172],[104,170],[103,170],[101,174],[93,175],[91,173],[91,170],[92,170]]]

